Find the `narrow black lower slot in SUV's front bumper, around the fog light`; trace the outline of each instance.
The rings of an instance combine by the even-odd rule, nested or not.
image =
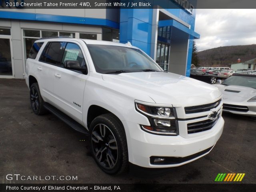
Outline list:
[[[172,164],[180,164],[180,163],[183,163],[183,162],[186,162],[186,161],[189,161],[189,160],[192,160],[194,158],[197,158],[203,154],[206,154],[208,153],[211,149],[213,148],[210,147],[206,150],[203,150],[203,151],[200,151],[196,154],[192,154],[190,156],[186,156],[186,157],[158,157],[158,156],[151,156],[150,157],[150,164],[153,164],[153,165],[172,165]],[[155,158],[164,158],[164,161],[162,162],[154,162],[154,159]]]

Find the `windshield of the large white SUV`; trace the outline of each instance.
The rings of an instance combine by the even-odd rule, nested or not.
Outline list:
[[[162,72],[151,58],[135,48],[87,44],[98,73]]]

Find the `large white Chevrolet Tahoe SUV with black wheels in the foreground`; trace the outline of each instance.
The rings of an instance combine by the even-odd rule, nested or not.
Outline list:
[[[36,40],[26,84],[34,113],[48,110],[88,134],[108,174],[123,172],[128,162],[147,168],[192,162],[212,150],[224,126],[216,87],[164,72],[130,44]]]

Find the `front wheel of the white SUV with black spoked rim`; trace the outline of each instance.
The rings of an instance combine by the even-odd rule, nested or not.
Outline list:
[[[108,174],[128,167],[128,148],[122,122],[113,114],[96,117],[90,124],[90,149],[98,166]]]

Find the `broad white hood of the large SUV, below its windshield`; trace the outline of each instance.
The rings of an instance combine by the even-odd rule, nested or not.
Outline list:
[[[103,74],[102,78],[110,84],[121,84],[134,99],[140,100],[140,94],[143,94],[159,104],[191,106],[211,102],[221,96],[221,92],[210,84],[173,73]]]

